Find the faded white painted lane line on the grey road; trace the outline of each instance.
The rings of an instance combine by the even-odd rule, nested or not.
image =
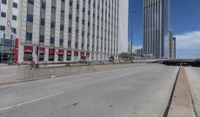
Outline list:
[[[16,107],[20,107],[20,106],[24,106],[24,105],[27,105],[27,104],[30,104],[30,103],[34,103],[34,102],[38,102],[38,101],[41,101],[41,100],[49,99],[51,97],[55,97],[55,96],[62,95],[62,94],[64,94],[64,92],[60,92],[60,93],[44,96],[44,97],[41,97],[41,98],[38,98],[38,99],[34,99],[34,100],[26,101],[26,102],[23,102],[23,103],[19,103],[17,105],[7,106],[7,107],[4,107],[4,108],[0,108],[0,111],[10,110],[10,109],[13,109],[13,108],[16,108]]]

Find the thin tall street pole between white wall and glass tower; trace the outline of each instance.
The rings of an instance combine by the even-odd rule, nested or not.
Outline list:
[[[131,38],[131,53],[130,53],[130,60],[131,60],[131,62],[133,62],[133,30],[134,30],[134,15],[135,14],[136,14],[136,11],[133,10],[131,12],[132,25],[131,25],[131,36],[130,36],[130,38]]]

